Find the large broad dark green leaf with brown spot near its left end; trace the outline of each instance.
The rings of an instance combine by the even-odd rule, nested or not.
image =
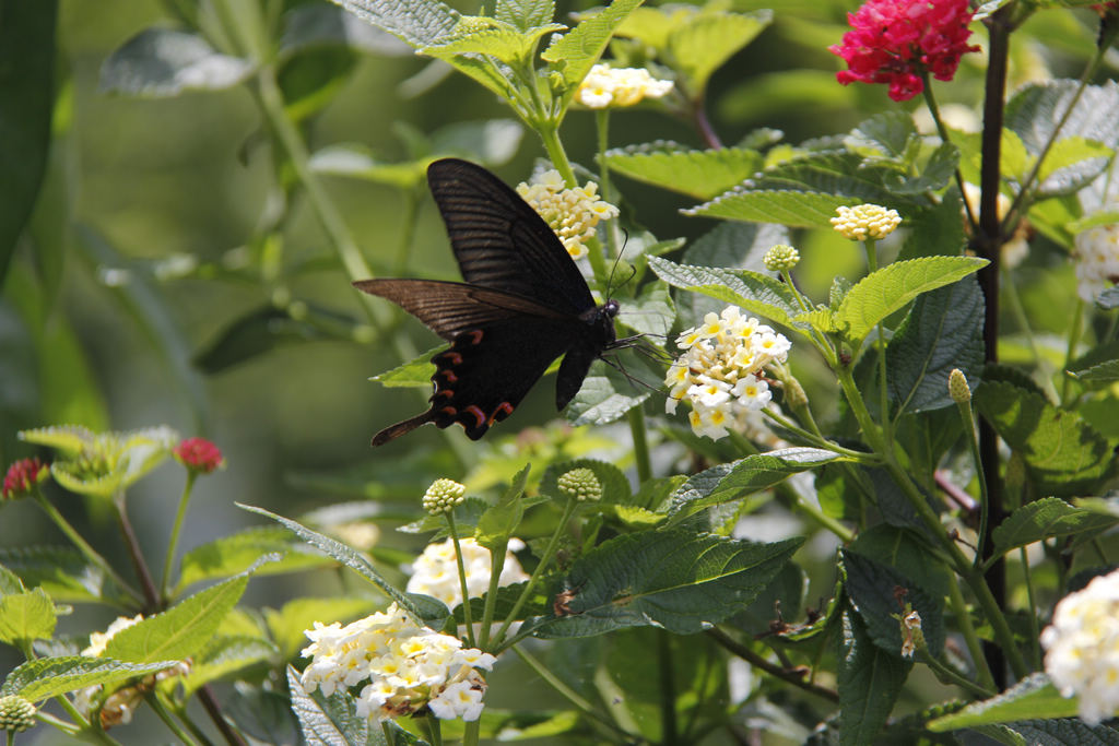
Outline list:
[[[656,624],[694,634],[737,613],[801,545],[727,539],[669,529],[610,539],[572,565],[574,612],[539,636],[580,638]]]

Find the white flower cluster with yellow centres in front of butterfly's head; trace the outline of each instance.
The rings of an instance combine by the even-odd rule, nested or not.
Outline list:
[[[784,362],[791,347],[784,334],[743,317],[736,305],[726,306],[722,314],[708,313],[700,325],[680,334],[676,344],[686,352],[665,377],[670,388],[665,409],[676,412],[677,402],[686,398],[692,403],[692,431],[712,440],[752,427],[751,413],[772,398],[759,374],[771,362]]]

